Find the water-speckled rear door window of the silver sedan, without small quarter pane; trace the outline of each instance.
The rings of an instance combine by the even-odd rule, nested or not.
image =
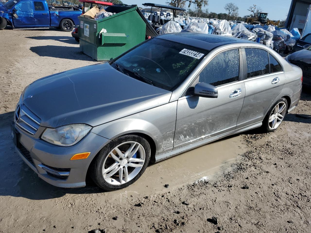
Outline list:
[[[245,48],[247,78],[269,74],[268,52],[259,48]]]

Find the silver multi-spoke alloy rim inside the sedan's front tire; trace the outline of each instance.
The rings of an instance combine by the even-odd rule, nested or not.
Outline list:
[[[145,149],[138,142],[124,142],[113,148],[105,158],[102,175],[110,185],[122,185],[132,180],[145,163]]]

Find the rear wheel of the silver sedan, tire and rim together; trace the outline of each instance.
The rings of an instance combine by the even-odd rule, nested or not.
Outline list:
[[[267,116],[262,122],[262,130],[265,133],[275,131],[284,120],[287,113],[287,100],[285,98],[279,99],[269,110]]]

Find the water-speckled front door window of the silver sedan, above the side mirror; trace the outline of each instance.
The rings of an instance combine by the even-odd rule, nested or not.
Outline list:
[[[239,49],[218,54],[202,70],[199,82],[213,86],[224,85],[239,80]]]

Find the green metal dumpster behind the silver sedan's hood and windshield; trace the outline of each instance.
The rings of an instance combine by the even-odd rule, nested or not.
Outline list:
[[[97,61],[114,59],[148,36],[157,35],[136,5],[111,6],[106,11],[116,14],[97,21],[78,17],[80,48]]]

